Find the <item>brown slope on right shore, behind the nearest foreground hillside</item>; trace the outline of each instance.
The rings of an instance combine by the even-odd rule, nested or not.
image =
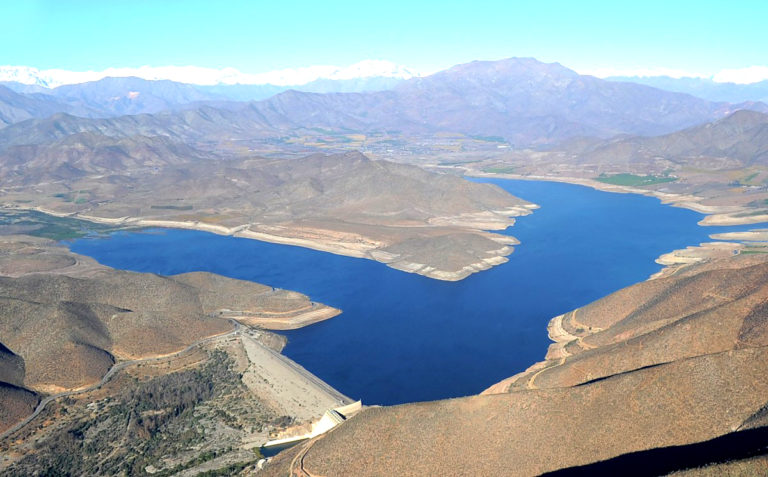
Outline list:
[[[768,345],[768,265],[704,267],[638,283],[550,323],[547,361],[514,388],[569,387],[633,370]],[[627,350],[632,350],[627,352]]]

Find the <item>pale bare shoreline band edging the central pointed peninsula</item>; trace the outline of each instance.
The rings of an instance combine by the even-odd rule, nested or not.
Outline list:
[[[283,245],[294,245],[336,255],[375,260],[397,270],[408,273],[417,273],[437,280],[458,281],[473,273],[487,270],[493,266],[507,262],[505,257],[513,252],[512,245],[517,245],[519,242],[514,237],[495,234],[489,231],[504,230],[507,227],[514,225],[514,217],[528,215],[536,208],[538,208],[538,206],[535,204],[525,204],[509,207],[503,210],[468,213],[452,217],[435,217],[431,219],[427,227],[454,227],[457,233],[471,233],[489,239],[488,243],[498,244],[498,248],[485,251],[485,256],[476,257],[476,261],[466,263],[453,270],[444,270],[439,268],[439,266],[434,266],[430,263],[419,263],[404,257],[402,254],[382,250],[391,244],[370,239],[357,233],[340,232],[316,227],[290,227],[264,224],[242,224],[234,227],[226,227],[202,221],[160,220],[147,217],[107,218],[78,212],[62,213],[39,206],[14,206],[10,210],[32,210],[55,217],[74,218],[93,223],[114,225],[117,227],[162,227],[199,230],[218,235],[242,237]]]

